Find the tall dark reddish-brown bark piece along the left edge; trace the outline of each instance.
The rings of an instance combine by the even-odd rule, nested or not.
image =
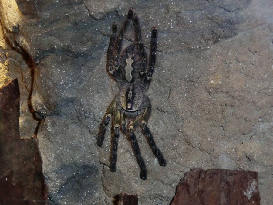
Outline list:
[[[0,204],[46,204],[47,191],[35,137],[20,139],[18,80],[0,89]]]

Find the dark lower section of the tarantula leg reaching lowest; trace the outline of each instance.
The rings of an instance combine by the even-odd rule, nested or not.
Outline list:
[[[145,179],[147,179],[146,165],[145,165],[143,158],[141,157],[140,149],[139,149],[139,146],[138,146],[138,143],[136,140],[136,135],[132,129],[129,129],[129,139],[132,143],[132,147],[133,147],[134,153],[136,155],[136,161],[137,161],[138,166],[141,170],[140,178],[145,180]]]

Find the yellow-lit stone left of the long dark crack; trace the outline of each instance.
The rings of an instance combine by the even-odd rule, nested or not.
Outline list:
[[[23,53],[24,49],[28,49],[28,45],[19,30],[19,25],[22,24],[24,16],[19,11],[15,0],[1,1],[0,9],[2,11],[0,18],[0,87],[14,78],[19,79],[20,137],[22,139],[31,138],[35,134],[38,122],[33,119],[33,115],[28,108],[32,87],[32,72],[29,66],[30,61],[26,57],[27,52]],[[24,49],[22,49],[23,46]]]

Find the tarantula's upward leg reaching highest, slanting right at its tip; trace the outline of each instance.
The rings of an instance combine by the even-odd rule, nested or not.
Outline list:
[[[131,7],[128,11],[127,18],[125,19],[122,28],[120,29],[120,33],[116,38],[116,53],[115,53],[115,67],[119,66],[119,58],[120,58],[120,53],[121,53],[121,48],[122,48],[122,40],[124,36],[124,32],[128,28],[130,24],[130,20],[133,17],[134,9]]]

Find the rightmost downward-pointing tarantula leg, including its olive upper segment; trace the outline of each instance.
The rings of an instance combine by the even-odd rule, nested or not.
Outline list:
[[[148,105],[145,109],[144,114],[143,114],[143,120],[141,122],[141,125],[142,125],[141,130],[142,130],[143,135],[146,136],[148,144],[149,144],[151,150],[153,151],[153,154],[158,159],[160,166],[166,166],[166,160],[165,160],[162,152],[160,151],[160,149],[157,148],[157,145],[155,144],[154,139],[153,139],[153,135],[147,126],[147,122],[149,120],[150,113],[151,113],[151,105]]]

